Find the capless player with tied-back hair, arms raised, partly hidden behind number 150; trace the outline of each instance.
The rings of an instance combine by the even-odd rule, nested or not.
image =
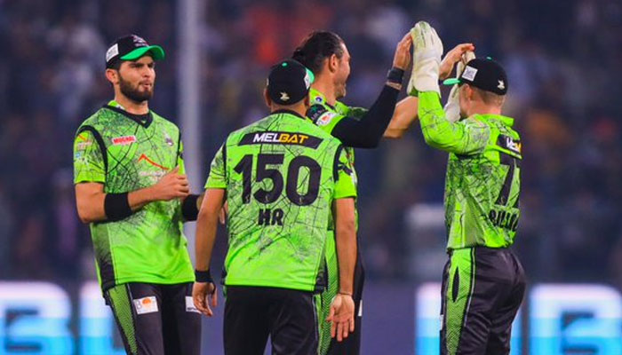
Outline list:
[[[417,118],[418,99],[407,96],[397,102],[402,90],[404,70],[411,64],[411,35],[406,34],[397,43],[393,67],[387,73],[387,81],[383,85],[378,99],[370,109],[347,106],[340,102],[347,93],[347,78],[350,75],[350,54],[346,43],[337,34],[330,31],[315,31],[294,51],[293,58],[315,74],[315,82],[311,85],[311,107],[307,116],[315,124],[339,138],[346,146],[348,160],[354,166],[354,148],[374,148],[381,138],[401,138]],[[473,51],[472,43],[462,43],[450,51],[443,59],[442,75],[451,74],[454,63],[465,51]],[[355,172],[354,172],[355,174]],[[331,299],[337,292],[339,280],[334,251],[334,236],[329,233],[326,258],[329,273],[329,286],[321,296],[323,314],[330,312]],[[360,352],[361,329],[363,321],[363,280],[364,270],[362,258],[357,255],[355,268],[355,332],[347,340],[337,343],[331,339],[328,328],[323,330],[321,339],[322,354],[355,355]]]

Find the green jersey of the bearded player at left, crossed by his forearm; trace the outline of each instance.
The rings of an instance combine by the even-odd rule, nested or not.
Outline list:
[[[111,101],[77,130],[74,183],[100,183],[105,193],[139,190],[176,166],[183,173],[182,151],[174,123],[154,112],[141,121]],[[92,223],[101,287],[194,281],[182,223],[178,199],[148,203],[121,221]]]

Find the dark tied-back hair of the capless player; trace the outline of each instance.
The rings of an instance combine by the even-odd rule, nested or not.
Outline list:
[[[291,58],[298,60],[317,75],[322,70],[325,58],[330,58],[333,54],[339,59],[343,57],[343,43],[343,39],[334,32],[314,31],[300,43]]]

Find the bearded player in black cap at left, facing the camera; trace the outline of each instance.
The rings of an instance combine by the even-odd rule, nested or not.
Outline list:
[[[201,319],[182,225],[196,219],[200,199],[184,175],[179,128],[148,106],[163,58],[160,46],[135,35],[108,48],[115,99],[76,132],[76,202],[125,351],[198,355]]]

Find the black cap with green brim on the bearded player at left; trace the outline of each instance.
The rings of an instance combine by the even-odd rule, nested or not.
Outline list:
[[[113,67],[117,60],[136,60],[148,54],[154,60],[164,59],[164,50],[159,45],[149,45],[140,36],[123,36],[106,51],[106,67]]]

